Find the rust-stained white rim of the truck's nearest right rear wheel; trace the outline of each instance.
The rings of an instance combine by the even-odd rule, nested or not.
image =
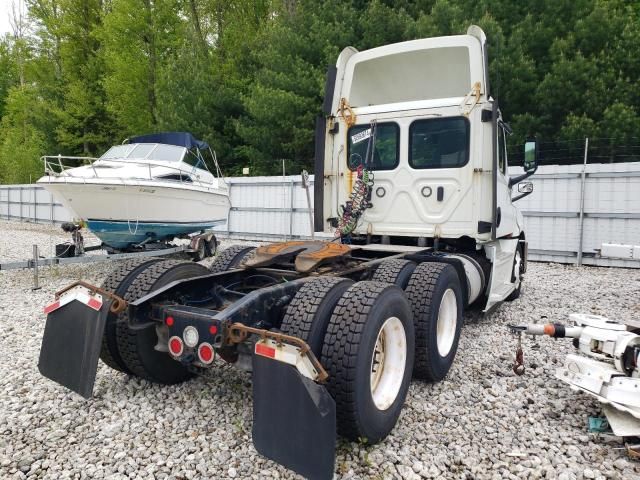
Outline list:
[[[398,317],[389,317],[378,332],[371,355],[370,386],[373,403],[386,410],[395,402],[407,364],[407,335]]]

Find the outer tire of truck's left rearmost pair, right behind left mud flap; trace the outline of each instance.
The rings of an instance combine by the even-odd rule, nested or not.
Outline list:
[[[107,278],[102,282],[101,288],[124,298],[126,297],[129,285],[140,270],[144,269],[147,265],[159,261],[159,258],[125,260],[107,275]],[[125,298],[125,300],[129,299]],[[116,315],[115,313],[109,313],[107,316],[104,335],[102,337],[102,347],[100,348],[100,360],[114,370],[131,373],[120,357],[120,352],[118,352],[116,322],[121,316],[122,314]]]

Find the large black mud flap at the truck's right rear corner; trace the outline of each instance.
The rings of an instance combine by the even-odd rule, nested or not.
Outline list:
[[[254,355],[253,443],[261,455],[306,478],[333,478],[333,398],[291,365]]]

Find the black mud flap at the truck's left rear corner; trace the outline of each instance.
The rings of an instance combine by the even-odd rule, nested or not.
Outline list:
[[[110,303],[96,311],[74,300],[47,315],[38,360],[42,375],[91,398]]]

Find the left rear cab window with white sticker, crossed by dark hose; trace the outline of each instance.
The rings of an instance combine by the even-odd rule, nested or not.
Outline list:
[[[354,125],[347,132],[347,165],[356,170],[364,165],[371,141],[371,125]],[[394,122],[376,125],[376,141],[369,170],[393,170],[400,162],[400,127]]]

